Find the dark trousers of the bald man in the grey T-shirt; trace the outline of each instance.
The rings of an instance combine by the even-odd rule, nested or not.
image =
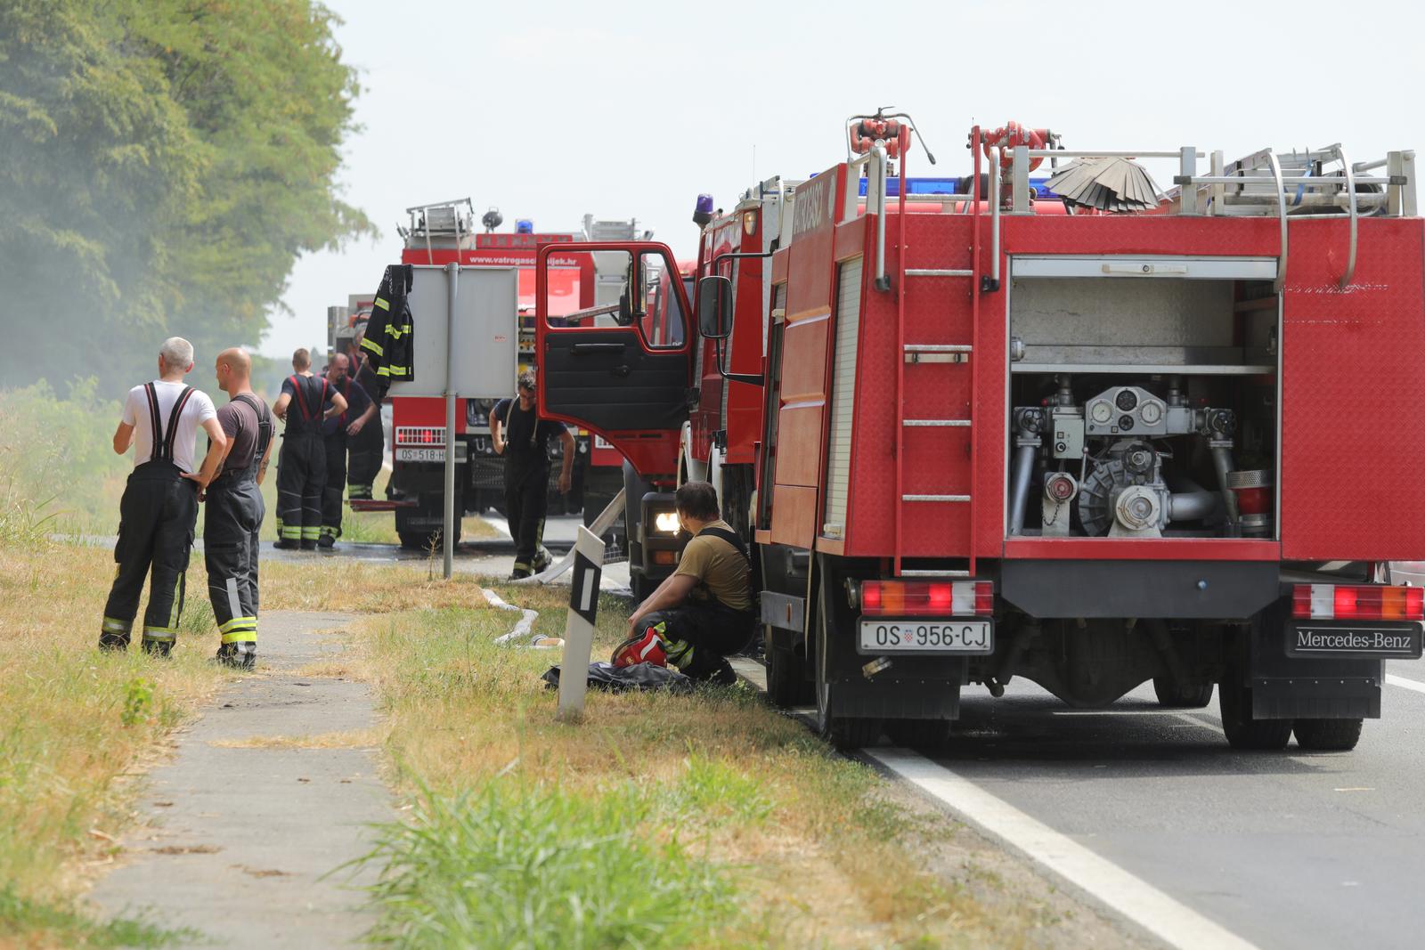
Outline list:
[[[256,644],[258,531],[266,514],[262,491],[251,474],[232,473],[208,486],[207,497],[202,554],[222,647]]]

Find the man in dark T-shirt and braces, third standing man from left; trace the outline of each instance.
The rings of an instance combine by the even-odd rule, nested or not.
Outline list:
[[[314,551],[322,533],[326,487],[322,422],[346,412],[346,400],[325,376],[312,375],[306,349],[292,353],[292,369],[272,406],[272,414],[286,423],[276,463],[276,547]]]

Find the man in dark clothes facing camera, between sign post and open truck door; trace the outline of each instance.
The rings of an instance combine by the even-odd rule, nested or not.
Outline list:
[[[569,491],[574,466],[574,437],[563,423],[540,419],[534,406],[534,373],[520,373],[519,396],[502,399],[490,410],[494,450],[504,456],[504,517],[514,538],[514,573],[510,580],[539,574],[553,560],[544,550],[544,514],[549,507],[549,440],[563,443],[559,490]]]

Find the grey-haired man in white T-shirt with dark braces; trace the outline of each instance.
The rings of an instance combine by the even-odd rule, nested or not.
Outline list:
[[[158,379],[128,392],[114,432],[114,451],[134,447],[134,471],[118,503],[118,573],[104,605],[98,640],[104,649],[128,648],[145,578],[144,651],[167,657],[178,634],[198,494],[228,449],[212,400],[182,382],[191,369],[192,343],[181,336],[164,340]],[[209,440],[201,467],[194,464],[198,429]]]

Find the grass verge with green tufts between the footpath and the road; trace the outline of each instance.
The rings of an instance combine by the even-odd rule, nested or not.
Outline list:
[[[542,611],[536,630],[561,632],[566,593],[499,591]],[[596,658],[623,635],[618,607],[600,607]],[[1046,943],[1053,912],[1037,894],[1000,900],[1000,883],[965,862],[953,822],[908,808],[751,688],[594,692],[580,724],[559,722],[539,682],[554,657],[490,642],[512,622],[482,604],[353,628],[351,668],[379,689],[410,803],[370,856],[386,869],[372,893],[378,940]],[[664,882],[675,886],[641,903]]]

